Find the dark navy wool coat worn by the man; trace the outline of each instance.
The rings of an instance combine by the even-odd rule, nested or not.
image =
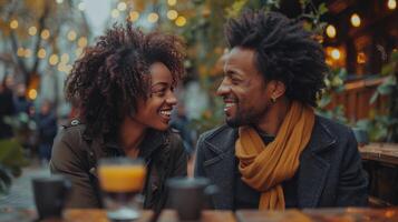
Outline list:
[[[214,209],[234,209],[235,140],[227,125],[204,133],[197,142],[195,176],[206,176],[220,192]],[[363,206],[368,179],[351,129],[316,117],[309,144],[297,171],[298,208]]]

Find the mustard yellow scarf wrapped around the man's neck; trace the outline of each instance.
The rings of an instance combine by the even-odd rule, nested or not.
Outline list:
[[[239,129],[235,155],[242,180],[261,192],[260,210],[283,210],[281,182],[291,179],[299,168],[299,158],[307,147],[314,123],[312,108],[292,102],[274,141],[264,144],[251,127]]]

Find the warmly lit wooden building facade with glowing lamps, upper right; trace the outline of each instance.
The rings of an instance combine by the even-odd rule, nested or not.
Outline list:
[[[372,101],[379,85],[386,83],[398,49],[398,9],[396,0],[329,0],[323,18],[323,46],[327,62],[346,69],[344,92],[336,94],[331,107],[343,104],[349,122],[387,113],[388,97]]]

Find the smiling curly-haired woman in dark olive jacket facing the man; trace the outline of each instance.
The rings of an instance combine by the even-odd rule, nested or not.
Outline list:
[[[101,208],[96,165],[109,157],[144,159],[144,206],[165,206],[165,181],[186,175],[187,167],[181,139],[168,130],[183,59],[178,38],[127,23],[115,24],[75,62],[66,98],[79,118],[58,133],[50,162],[52,173],[72,182],[67,206]]]

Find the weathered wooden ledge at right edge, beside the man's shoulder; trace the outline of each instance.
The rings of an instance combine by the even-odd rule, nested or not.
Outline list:
[[[363,160],[373,160],[398,165],[398,144],[370,143],[359,148]]]

